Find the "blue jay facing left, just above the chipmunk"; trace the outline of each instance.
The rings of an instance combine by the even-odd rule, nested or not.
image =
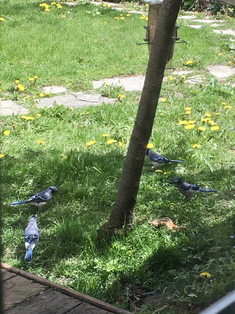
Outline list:
[[[182,180],[182,178],[174,178],[170,182],[170,184],[175,184],[178,188],[178,191],[185,195],[185,198],[190,199],[191,197],[195,196],[197,192],[217,192],[217,190],[212,189],[203,189],[196,184],[189,184]]]

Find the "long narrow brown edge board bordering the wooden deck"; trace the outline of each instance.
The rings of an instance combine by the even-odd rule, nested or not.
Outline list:
[[[56,290],[59,290],[60,292],[64,293],[65,295],[69,295],[71,297],[74,297],[74,298],[77,298],[83,302],[86,302],[86,303],[89,303],[91,305],[94,305],[94,306],[97,306],[101,309],[104,309],[104,310],[107,310],[111,313],[115,313],[115,314],[133,314],[129,311],[125,311],[117,306],[114,306],[112,304],[108,304],[106,302],[103,302],[101,300],[98,300],[98,299],[95,299],[95,298],[92,298],[91,296],[89,295],[85,295],[81,292],[78,292],[78,291],[75,291],[75,290],[72,290],[70,288],[67,288],[65,286],[62,286],[60,284],[56,284],[50,280],[47,280],[47,279],[44,279],[42,277],[38,277],[34,274],[31,274],[31,273],[27,273],[25,272],[24,270],[21,270],[21,269],[18,269],[16,267],[13,267],[13,266],[10,266],[8,264],[5,264],[5,263],[1,263],[1,268],[5,269],[5,270],[8,270],[9,272],[12,272],[12,273],[16,273],[17,275],[20,275],[24,278],[28,278],[28,279],[31,279],[31,280],[34,280],[36,282],[39,282],[40,284],[44,284],[44,285],[47,285],[51,288],[54,288]]]

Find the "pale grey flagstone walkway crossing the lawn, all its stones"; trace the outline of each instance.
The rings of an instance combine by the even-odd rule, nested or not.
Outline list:
[[[79,5],[76,1],[75,2],[63,2],[68,5]],[[128,8],[125,8],[123,5],[118,3],[109,3],[109,2],[93,2],[95,5],[101,5],[101,3],[106,3],[106,5],[110,5],[113,9],[116,10],[127,10],[129,13],[137,13],[137,14],[146,14],[146,12],[141,11],[132,11],[128,10]],[[206,17],[205,19],[196,19],[196,14],[194,12],[188,12],[189,15],[182,15],[179,16],[178,19],[181,20],[189,20],[196,23],[196,25],[185,25],[194,29],[200,29],[202,25],[206,24],[210,27],[219,27],[222,26],[223,21],[222,20],[211,20]],[[208,26],[208,27],[209,27]],[[221,27],[222,28],[222,27]],[[224,30],[214,30],[213,32],[217,34],[222,35],[230,35],[235,36],[235,30],[232,29],[224,29]],[[233,41],[233,39],[231,39]],[[224,80],[228,78],[231,75],[235,74],[235,68],[227,66],[227,65],[212,65],[207,68],[207,71],[217,77],[219,80]],[[190,70],[176,70],[172,73],[172,75],[188,75],[193,74],[193,71]],[[114,77],[114,78],[104,78],[99,81],[93,81],[93,87],[94,89],[99,89],[103,83],[109,83],[109,84],[117,84],[119,86],[122,86],[126,91],[132,92],[132,91],[142,91],[144,86],[144,79],[145,76],[143,75],[133,75],[130,77]],[[198,75],[192,75],[186,78],[185,83],[187,84],[196,84],[199,82],[202,82],[205,79],[203,74]],[[165,80],[165,78],[164,78]],[[47,93],[50,92],[51,94],[60,94],[60,93],[67,93],[67,89],[62,86],[45,86],[43,88],[43,92]],[[73,107],[73,108],[83,108],[88,106],[100,106],[102,103],[106,104],[112,104],[116,101],[116,99],[109,99],[106,97],[103,97],[100,94],[92,94],[92,93],[70,93],[65,95],[55,95],[53,97],[48,98],[41,98],[36,99],[35,103],[38,108],[43,107],[52,107],[53,103],[56,102],[58,104],[63,104],[67,107]],[[17,105],[12,100],[1,100],[0,99],[0,115],[6,116],[6,115],[13,115],[13,114],[27,114],[29,112],[28,109],[24,108],[23,106]]]

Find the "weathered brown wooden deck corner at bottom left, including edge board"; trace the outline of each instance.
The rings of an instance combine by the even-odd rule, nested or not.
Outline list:
[[[5,263],[1,272],[6,314],[133,314]]]

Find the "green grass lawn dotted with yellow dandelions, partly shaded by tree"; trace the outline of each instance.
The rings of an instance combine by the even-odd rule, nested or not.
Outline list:
[[[144,74],[147,46],[135,43],[142,42],[147,22],[137,14],[126,16],[128,12],[121,20],[124,13],[86,3],[72,9],[62,4],[61,11],[53,12],[44,12],[36,1],[1,5],[1,97],[23,103],[34,118],[1,119],[3,262],[131,311],[137,306],[142,313],[164,305],[166,314],[197,312],[234,289],[232,78],[225,88],[203,72],[205,84],[190,87],[185,78],[168,75],[150,143],[158,153],[185,163],[155,172],[146,160],[133,229],[98,245],[96,231],[115,200],[140,93],[122,91],[125,97],[113,105],[80,110],[59,105],[39,110],[31,96],[38,98],[47,84],[71,83],[71,90],[86,90],[95,79]],[[86,13],[96,8],[101,14]],[[212,34],[206,26],[195,30],[182,24],[180,37],[188,44],[176,46],[175,67],[200,73],[209,64],[234,60],[226,46],[229,37]],[[187,65],[188,60],[193,63]],[[34,76],[39,78],[30,83]],[[16,79],[24,91],[17,90]],[[206,117],[211,119],[201,121]],[[188,124],[180,122],[185,120]],[[109,139],[117,142],[107,144]],[[187,202],[169,184],[175,176],[218,193],[201,193]],[[59,192],[42,209],[9,205],[50,185]],[[41,237],[32,263],[26,264],[23,234],[32,214]],[[148,221],[160,217],[170,217],[188,231],[149,226]],[[130,302],[134,293],[153,290],[157,297],[152,303],[141,307]]]

